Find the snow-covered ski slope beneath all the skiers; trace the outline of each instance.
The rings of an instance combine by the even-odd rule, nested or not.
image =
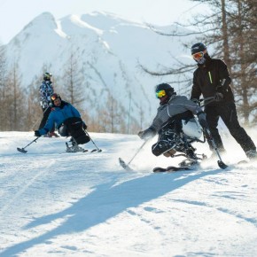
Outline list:
[[[40,138],[22,154],[33,133],[0,132],[1,257],[257,256],[257,163],[233,165],[245,159],[235,140],[225,170],[214,161],[153,174],[179,160],[154,157],[149,143],[128,172],[118,158],[128,162],[142,140],[90,135],[103,152],[66,153],[66,138]]]

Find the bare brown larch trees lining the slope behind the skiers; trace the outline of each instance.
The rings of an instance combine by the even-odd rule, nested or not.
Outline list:
[[[210,12],[200,13],[183,24],[182,27],[193,27],[194,42],[184,42],[184,47],[191,48],[192,43],[203,42],[214,49],[214,58],[222,58],[229,67],[232,78],[232,90],[237,99],[238,115],[245,126],[254,126],[257,122],[257,4],[256,0],[191,0],[199,4],[207,4]],[[182,37],[176,31],[157,33],[163,36]],[[7,65],[9,64],[9,65]],[[7,68],[8,66],[8,68]],[[142,67],[142,66],[141,66]],[[174,75],[175,82],[183,83],[184,89],[190,90],[192,73],[195,66],[185,65],[177,60],[177,66],[167,69],[144,72],[152,75]],[[5,46],[0,45],[0,130],[30,131],[38,127],[42,117],[39,105],[38,89],[42,82],[42,74],[35,74],[35,80],[26,89],[21,87],[19,65],[10,65],[5,55]],[[122,106],[109,94],[109,98],[99,105],[97,113],[83,111],[83,102],[87,96],[82,94],[82,80],[76,66],[76,58],[71,53],[63,67],[63,74],[56,74],[54,85],[66,83],[62,97],[76,106],[82,117],[94,132],[136,133],[140,122],[129,121],[123,115]],[[191,75],[189,75],[191,74]],[[60,90],[60,88],[59,88]],[[133,97],[133,96],[132,96]],[[142,113],[138,116],[143,117]],[[128,115],[129,117],[129,115]],[[141,122],[142,123],[142,122]],[[128,129],[129,128],[129,129]]]

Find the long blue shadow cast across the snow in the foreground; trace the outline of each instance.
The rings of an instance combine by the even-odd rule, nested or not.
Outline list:
[[[139,206],[157,199],[167,192],[174,191],[187,183],[204,177],[224,173],[224,170],[199,171],[196,174],[178,172],[175,174],[151,174],[113,186],[116,181],[100,184],[86,197],[78,200],[65,210],[50,214],[30,222],[25,229],[51,223],[66,218],[57,228],[30,240],[6,248],[1,256],[14,256],[26,251],[33,245],[43,244],[51,238],[57,238],[74,232],[82,232],[99,223],[121,214],[130,207]],[[121,178],[121,175],[119,175]],[[111,206],[111,207],[110,207]]]

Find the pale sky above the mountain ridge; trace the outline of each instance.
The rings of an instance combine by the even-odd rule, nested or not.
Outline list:
[[[42,12],[51,12],[59,19],[69,14],[104,11],[125,19],[169,25],[198,12],[196,5],[190,0],[0,0],[0,42],[8,43]]]

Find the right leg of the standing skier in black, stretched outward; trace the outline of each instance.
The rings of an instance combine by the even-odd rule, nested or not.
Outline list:
[[[250,157],[248,156],[248,152],[256,152],[256,146],[251,137],[247,135],[245,129],[242,128],[238,122],[236,105],[230,103],[221,107],[220,114],[222,121],[224,121],[227,128],[229,128],[231,136],[241,145],[247,157]]]

